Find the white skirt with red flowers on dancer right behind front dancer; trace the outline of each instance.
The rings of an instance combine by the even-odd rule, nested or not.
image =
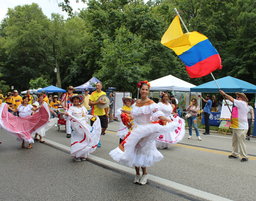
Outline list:
[[[169,119],[173,119],[173,122],[178,122],[179,126],[173,130],[168,130],[167,132],[162,132],[156,138],[156,146],[159,149],[164,149],[172,144],[180,142],[185,136],[185,121],[178,116],[172,116]]]

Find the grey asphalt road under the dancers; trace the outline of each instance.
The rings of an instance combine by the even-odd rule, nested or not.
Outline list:
[[[51,128],[46,143],[29,150],[2,129],[0,200],[255,200],[254,138],[246,142],[249,161],[242,163],[227,157],[230,135],[200,135],[198,141],[193,133],[189,140],[186,130],[181,143],[159,150],[164,159],[147,168],[142,186],[133,184],[135,170],[109,155],[119,144],[118,127],[110,123],[101,147],[79,163],[70,157],[64,127]]]

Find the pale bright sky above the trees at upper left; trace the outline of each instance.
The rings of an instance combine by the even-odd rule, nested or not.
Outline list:
[[[14,8],[17,5],[32,4],[36,3],[41,7],[42,12],[48,17],[51,18],[51,13],[59,13],[64,15],[64,18],[67,19],[68,15],[66,12],[61,11],[61,8],[58,7],[57,2],[63,2],[62,0],[0,0],[0,21],[5,17],[8,8]],[[75,0],[70,0],[70,5],[74,11],[77,9],[85,8],[86,4],[83,4],[79,1],[76,3]],[[79,11],[78,11],[79,12]]]

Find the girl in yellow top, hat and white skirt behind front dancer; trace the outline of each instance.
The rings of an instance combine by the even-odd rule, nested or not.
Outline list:
[[[132,99],[132,97],[128,96],[126,98],[122,98],[124,106],[116,110],[116,117],[118,118],[118,121],[120,122],[119,124],[119,129],[116,133],[116,135],[120,138],[119,144],[121,141],[124,139],[124,137],[127,135],[129,132],[129,128],[125,126],[122,122],[121,119],[121,114],[126,113],[127,115],[131,115],[131,110],[132,110],[132,105],[135,103],[135,100]]]

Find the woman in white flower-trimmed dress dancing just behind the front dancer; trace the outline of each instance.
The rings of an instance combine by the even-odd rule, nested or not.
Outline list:
[[[160,106],[160,110],[166,118],[172,120],[178,119],[179,122],[182,122],[182,120],[177,117],[176,114],[172,114],[173,107],[171,104],[168,103],[168,100],[169,95],[167,93],[164,93],[162,95],[161,102],[158,103],[158,105]],[[153,119],[153,121],[156,121],[156,119]],[[181,141],[184,135],[185,130],[179,130],[178,132],[176,130],[169,130],[166,133],[161,133],[161,135],[156,138],[156,146],[159,149],[168,148],[171,144],[176,144],[177,142]]]

